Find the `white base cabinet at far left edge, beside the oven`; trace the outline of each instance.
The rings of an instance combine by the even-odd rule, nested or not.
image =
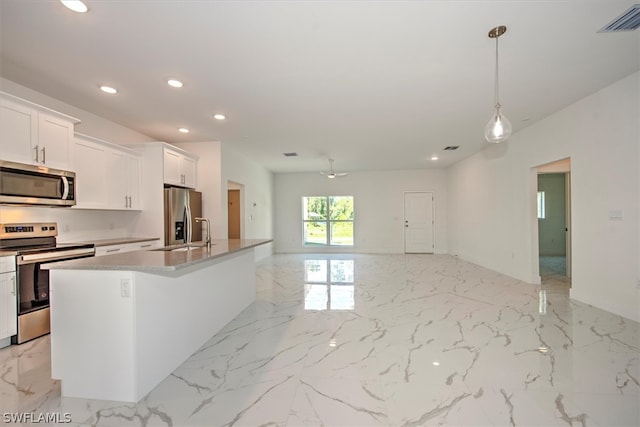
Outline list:
[[[0,341],[18,333],[15,262],[13,256],[0,257]]]

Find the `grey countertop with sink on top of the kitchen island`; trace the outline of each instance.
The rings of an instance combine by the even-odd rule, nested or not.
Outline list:
[[[206,246],[187,248],[184,245],[177,245],[147,251],[47,263],[43,264],[42,268],[49,270],[126,270],[170,273],[272,241],[272,239],[212,239],[210,248]]]

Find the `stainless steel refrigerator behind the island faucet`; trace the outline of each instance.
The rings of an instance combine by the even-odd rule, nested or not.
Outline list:
[[[202,193],[187,188],[164,189],[165,246],[202,240],[202,224],[194,218],[202,216]]]

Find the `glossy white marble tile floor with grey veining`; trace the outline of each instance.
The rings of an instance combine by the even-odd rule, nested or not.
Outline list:
[[[137,404],[61,398],[48,337],[0,350],[0,423],[639,426],[639,324],[567,289],[447,255],[275,255],[257,300]]]

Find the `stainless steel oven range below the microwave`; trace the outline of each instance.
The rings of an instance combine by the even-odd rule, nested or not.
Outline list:
[[[14,344],[48,334],[49,270],[42,264],[95,255],[89,244],[58,244],[55,222],[0,224],[0,251],[16,254],[18,333]]]

